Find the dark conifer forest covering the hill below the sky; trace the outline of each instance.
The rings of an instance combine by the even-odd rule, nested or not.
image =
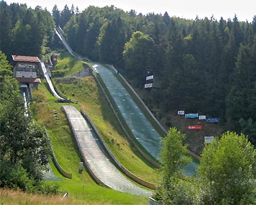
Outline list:
[[[61,48],[54,28],[61,26],[75,52],[114,65],[138,89],[147,71],[158,88],[146,104],[220,118],[226,130],[243,132],[256,143],[256,16],[182,19],[171,13],[142,15],[90,6],[52,12],[0,1],[0,50],[42,56]]]

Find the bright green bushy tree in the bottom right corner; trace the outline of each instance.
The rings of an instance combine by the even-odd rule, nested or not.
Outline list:
[[[256,151],[244,134],[226,132],[201,155],[201,204],[255,204]]]

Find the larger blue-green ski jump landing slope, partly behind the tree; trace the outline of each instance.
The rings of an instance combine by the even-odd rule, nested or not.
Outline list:
[[[160,141],[162,137],[146,116],[138,108],[131,95],[115,76],[113,69],[108,69],[97,63],[90,63],[94,70],[99,73],[102,81],[106,85],[110,95],[113,97],[119,112],[123,119],[133,132],[137,141],[150,153],[154,158],[160,159]],[[192,161],[185,166],[185,175],[195,174],[197,163]]]

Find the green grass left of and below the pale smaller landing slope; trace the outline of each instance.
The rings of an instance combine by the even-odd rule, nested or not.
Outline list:
[[[147,204],[147,198],[98,186],[86,170],[82,174],[78,173],[79,161],[82,157],[79,155],[65,114],[61,111],[63,104],[54,102],[55,97],[51,96],[44,83],[42,81],[38,91],[33,91],[35,101],[32,104],[32,110],[34,120],[46,126],[61,167],[72,173],[72,179],[65,179],[52,166],[54,173],[63,179],[63,181],[56,182],[61,186],[61,191],[69,192],[69,200],[75,201],[76,204],[82,204],[83,201],[86,204]],[[73,106],[79,109],[79,106],[75,104]]]

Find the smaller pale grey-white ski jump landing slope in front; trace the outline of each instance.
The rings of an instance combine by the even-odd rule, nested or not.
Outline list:
[[[144,190],[127,179],[106,157],[98,138],[82,114],[73,106],[63,106],[79,150],[84,161],[93,174],[105,186],[119,192],[139,196],[151,196],[152,192]]]

